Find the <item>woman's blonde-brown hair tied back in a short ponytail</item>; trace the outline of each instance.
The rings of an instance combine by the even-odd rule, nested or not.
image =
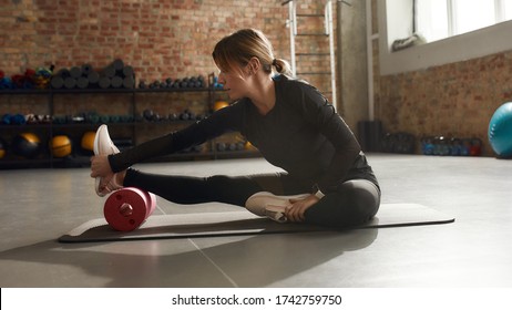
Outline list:
[[[291,69],[287,61],[274,58],[270,41],[256,29],[242,29],[224,37],[215,44],[212,56],[217,66],[225,72],[239,70],[247,65],[252,58],[257,58],[264,72],[272,74],[273,66],[277,73],[291,75]]]

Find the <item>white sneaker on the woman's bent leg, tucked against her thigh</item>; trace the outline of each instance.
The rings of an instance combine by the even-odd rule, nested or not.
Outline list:
[[[310,194],[300,194],[294,196],[277,196],[269,192],[259,192],[250,196],[245,202],[245,207],[250,213],[258,216],[266,216],[277,223],[286,223],[286,207],[290,206],[290,199],[306,198]]]

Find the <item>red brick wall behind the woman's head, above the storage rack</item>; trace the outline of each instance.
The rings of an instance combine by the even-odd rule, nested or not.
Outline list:
[[[0,70],[101,69],[121,58],[146,80],[204,74],[215,70],[215,42],[248,27],[288,59],[287,13],[275,0],[0,0]]]

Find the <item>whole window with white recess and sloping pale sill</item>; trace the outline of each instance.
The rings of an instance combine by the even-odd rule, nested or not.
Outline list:
[[[381,75],[424,70],[447,63],[512,51],[512,0],[501,0],[498,2],[498,6],[493,4],[491,7],[494,8],[494,12],[498,11],[498,16],[502,17],[502,19],[499,19],[502,22],[484,27],[478,31],[471,31],[462,35],[453,35],[450,38],[448,38],[448,17],[450,16],[449,12],[452,12],[452,9],[449,10],[449,8],[452,7],[448,6],[448,1],[449,0],[376,1],[379,16],[379,33],[377,38],[379,39],[379,70]],[[453,0],[450,1],[454,4]],[[483,3],[496,3],[496,1],[489,0],[458,1],[460,1],[460,4],[468,7],[470,7],[470,2],[473,3],[472,7],[478,2],[477,7],[479,8],[482,7]],[[422,30],[422,33],[441,33],[442,35],[438,34],[436,38],[437,41],[429,44],[414,44],[411,49],[393,51],[392,44],[395,41],[408,38],[414,32],[419,32],[419,28],[414,29],[417,23],[412,22],[413,20],[419,21],[419,16],[416,14],[417,18],[414,18],[413,14],[413,12],[420,12],[417,6],[420,4],[419,2],[423,2],[421,3],[423,6],[423,10],[421,10],[423,21],[429,20],[429,23],[432,25],[429,28],[430,32]],[[484,10],[482,9],[481,11],[483,12]],[[450,18],[450,20],[452,20],[452,18]],[[480,24],[480,14],[478,24]],[[453,30],[453,25],[450,25],[450,28]],[[430,42],[434,41],[431,39],[432,37],[432,34],[428,37]]]

